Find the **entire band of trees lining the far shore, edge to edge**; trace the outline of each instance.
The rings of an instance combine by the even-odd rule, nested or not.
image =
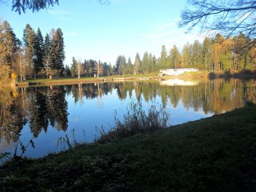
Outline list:
[[[0,79],[56,77],[92,77],[127,74],[148,74],[162,68],[198,68],[207,72],[255,72],[256,46],[254,40],[243,33],[224,37],[220,33],[205,37],[204,42],[195,40],[185,44],[181,51],[173,45],[170,51],[161,47],[160,56],[145,52],[140,58],[138,52],[132,63],[131,58],[118,56],[116,63],[96,60],[76,60],[64,65],[65,51],[63,32],[51,29],[43,37],[40,28],[36,31],[27,24],[23,38],[16,37],[10,24],[4,20],[0,24]]]

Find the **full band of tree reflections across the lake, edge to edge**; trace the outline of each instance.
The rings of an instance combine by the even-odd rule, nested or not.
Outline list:
[[[47,132],[49,124],[58,130],[67,130],[66,95],[74,102],[97,99],[99,107],[102,96],[115,91],[120,100],[143,98],[146,102],[158,96],[163,106],[168,103],[175,108],[181,102],[184,108],[193,108],[204,113],[223,113],[244,105],[244,99],[256,102],[255,80],[215,79],[196,86],[159,86],[158,82],[124,82],[74,84],[67,86],[0,88],[0,141],[17,141],[22,127],[29,127],[36,138],[42,130]]]

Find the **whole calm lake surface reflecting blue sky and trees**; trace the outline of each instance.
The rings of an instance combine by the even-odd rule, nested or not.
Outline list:
[[[58,86],[0,88],[0,154],[42,157],[67,145],[57,145],[66,134],[72,143],[90,142],[122,119],[127,105],[141,102],[145,111],[153,104],[169,114],[169,125],[198,120],[256,101],[255,79],[93,83]],[[21,142],[20,142],[21,141]]]

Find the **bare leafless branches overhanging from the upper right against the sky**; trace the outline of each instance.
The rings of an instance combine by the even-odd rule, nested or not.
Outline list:
[[[201,31],[218,30],[227,36],[243,32],[255,37],[255,11],[256,1],[250,0],[188,0],[179,26],[188,31],[200,26]]]

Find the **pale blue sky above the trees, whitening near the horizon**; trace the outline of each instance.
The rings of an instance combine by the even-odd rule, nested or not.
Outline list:
[[[81,61],[94,59],[113,65],[120,54],[127,60],[130,56],[133,63],[136,52],[141,59],[145,51],[158,57],[161,45],[169,51],[172,45],[181,49],[186,42],[204,38],[196,30],[184,34],[186,29],[177,27],[186,0],[110,0],[105,5],[97,0],[60,0],[48,10],[28,10],[21,15],[12,12],[11,3],[1,4],[0,18],[10,22],[18,38],[22,38],[26,24],[35,30],[39,27],[44,36],[52,28],[62,29],[65,64],[74,56]]]

